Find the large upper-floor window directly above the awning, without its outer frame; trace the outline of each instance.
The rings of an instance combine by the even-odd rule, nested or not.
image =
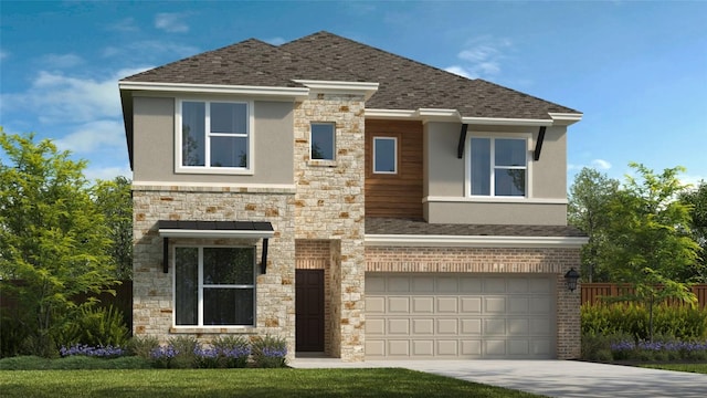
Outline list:
[[[240,102],[181,101],[178,170],[251,169],[251,106]]]

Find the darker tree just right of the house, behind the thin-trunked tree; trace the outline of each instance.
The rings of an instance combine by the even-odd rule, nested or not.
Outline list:
[[[584,167],[570,187],[568,222],[589,237],[582,247],[582,277],[591,282],[606,282],[609,268],[601,253],[606,245],[609,206],[619,190],[619,180]]]

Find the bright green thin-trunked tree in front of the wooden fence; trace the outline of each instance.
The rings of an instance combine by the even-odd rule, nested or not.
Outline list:
[[[677,200],[685,186],[682,167],[661,175],[631,164],[637,177],[626,182],[609,206],[605,260],[612,264],[612,282],[630,283],[634,294],[622,298],[641,301],[650,308],[648,335],[653,338],[653,306],[673,297],[687,303],[697,298],[685,275],[694,272],[699,245],[690,237],[690,207]]]

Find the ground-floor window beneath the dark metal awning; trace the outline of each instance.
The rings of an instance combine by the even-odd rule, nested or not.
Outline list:
[[[175,248],[177,326],[254,326],[255,248]]]

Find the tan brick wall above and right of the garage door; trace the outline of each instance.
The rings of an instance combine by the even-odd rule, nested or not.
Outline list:
[[[564,273],[580,268],[579,249],[366,248],[369,272],[545,273],[557,279],[557,357],[581,354],[580,293],[567,290]]]

